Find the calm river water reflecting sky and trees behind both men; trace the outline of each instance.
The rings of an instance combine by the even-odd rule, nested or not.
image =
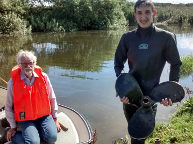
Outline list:
[[[175,28],[175,30],[179,28]],[[38,65],[48,73],[58,103],[83,113],[97,130],[97,144],[111,144],[127,134],[122,104],[115,97],[113,59],[122,31],[36,33],[24,37],[0,38],[0,77],[9,80],[20,49],[33,50]],[[193,52],[193,31],[175,31],[181,56]],[[125,71],[128,69],[126,68]],[[168,66],[161,81],[168,80]],[[192,88],[192,77],[180,79]],[[2,81],[0,85],[6,86]],[[156,120],[168,121],[175,106],[159,106]]]

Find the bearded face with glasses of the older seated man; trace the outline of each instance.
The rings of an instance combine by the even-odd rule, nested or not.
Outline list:
[[[33,76],[34,62],[31,58],[26,56],[21,57],[20,68],[28,78]]]

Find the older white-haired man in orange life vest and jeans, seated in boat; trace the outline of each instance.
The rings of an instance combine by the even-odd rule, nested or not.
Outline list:
[[[61,129],[52,85],[36,61],[33,52],[20,50],[8,82],[5,112],[11,129],[7,140],[18,144],[39,144],[40,138],[54,143]],[[16,131],[16,122],[21,132]]]

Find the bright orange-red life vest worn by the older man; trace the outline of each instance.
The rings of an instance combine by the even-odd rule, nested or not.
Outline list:
[[[36,77],[32,86],[27,86],[21,80],[19,66],[12,68],[14,115],[16,121],[35,120],[51,113],[47,85],[42,69],[34,68]]]

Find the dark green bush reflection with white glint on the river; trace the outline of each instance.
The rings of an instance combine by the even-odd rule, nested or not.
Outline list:
[[[32,47],[41,58],[40,64],[99,72],[105,66],[104,61],[112,60],[117,42],[113,32],[95,31],[34,35]]]

